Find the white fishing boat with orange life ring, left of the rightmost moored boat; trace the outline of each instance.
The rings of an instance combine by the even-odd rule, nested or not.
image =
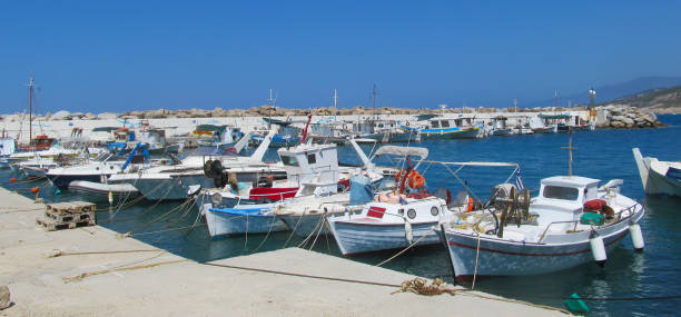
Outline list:
[[[425,178],[416,170],[424,162],[442,162],[420,160],[412,166],[411,155],[406,155],[409,150],[418,148],[403,149],[404,169],[395,177],[397,190],[376,195],[357,215],[345,212],[327,218],[329,229],[344,256],[406,248],[412,244],[437,244],[440,238],[434,229],[437,228],[440,218],[451,214],[451,209],[463,208],[462,205],[467,204],[465,197],[452,201],[451,195],[444,189],[440,190],[442,194],[437,196],[430,194]]]

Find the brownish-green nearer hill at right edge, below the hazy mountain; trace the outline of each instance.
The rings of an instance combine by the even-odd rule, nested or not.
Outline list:
[[[681,86],[655,88],[636,92],[604,103],[623,103],[638,108],[652,108],[658,113],[681,112]]]

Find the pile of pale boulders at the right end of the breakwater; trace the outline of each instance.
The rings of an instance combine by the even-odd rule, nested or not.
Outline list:
[[[633,129],[655,128],[665,125],[652,111],[626,105],[608,105],[596,108],[605,116],[599,128]]]

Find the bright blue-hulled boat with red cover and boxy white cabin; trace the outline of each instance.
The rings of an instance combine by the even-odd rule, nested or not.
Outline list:
[[[335,145],[303,143],[289,149],[280,148],[278,153],[287,176],[284,187],[253,188],[228,177],[229,184],[225,188],[201,194],[204,198],[199,208],[208,224],[210,237],[285,230],[287,227],[275,215],[275,209],[280,204],[288,204],[286,198],[305,196],[318,200],[338,192]],[[273,202],[280,200],[284,201]]]

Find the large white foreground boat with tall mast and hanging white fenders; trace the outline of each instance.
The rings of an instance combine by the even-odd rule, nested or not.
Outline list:
[[[522,182],[502,184],[484,208],[442,219],[457,281],[603,265],[629,232],[643,249],[643,206],[620,194],[621,179],[599,187],[598,179],[572,176],[572,133],[569,149],[569,176],[542,179],[537,197]]]

